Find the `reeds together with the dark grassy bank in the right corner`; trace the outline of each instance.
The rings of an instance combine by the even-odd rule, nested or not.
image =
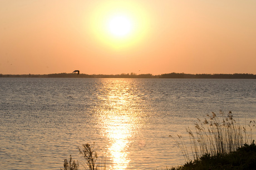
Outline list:
[[[183,152],[186,163],[183,166],[173,167],[178,169],[255,169],[256,146],[252,141],[252,128],[255,122],[250,121],[249,133],[247,128],[240,126],[233,119],[230,111],[227,117],[220,111],[219,119],[214,112],[203,122],[195,123],[195,132],[187,128],[190,137],[191,152],[194,161],[189,158],[188,149],[183,138],[178,135],[175,142]],[[243,143],[245,143],[243,145]]]

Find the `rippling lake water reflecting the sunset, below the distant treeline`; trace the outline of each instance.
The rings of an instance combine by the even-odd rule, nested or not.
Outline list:
[[[93,142],[107,169],[177,166],[169,135],[219,110],[255,120],[256,80],[0,78],[1,167],[60,169]]]

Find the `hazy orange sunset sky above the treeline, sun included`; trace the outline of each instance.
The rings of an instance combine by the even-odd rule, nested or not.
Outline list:
[[[256,74],[256,1],[0,1],[0,74],[73,70]]]

